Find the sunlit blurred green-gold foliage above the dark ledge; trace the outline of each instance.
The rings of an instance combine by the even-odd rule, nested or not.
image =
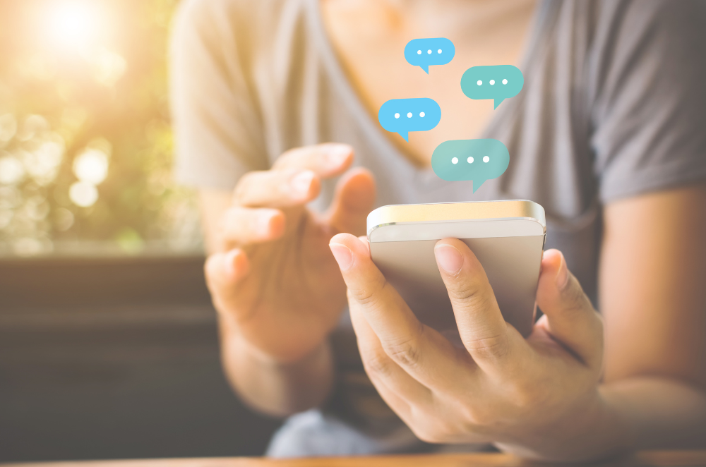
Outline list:
[[[176,4],[0,0],[0,255],[201,248],[171,181]]]

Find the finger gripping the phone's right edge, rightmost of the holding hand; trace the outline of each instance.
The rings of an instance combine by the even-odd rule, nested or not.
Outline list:
[[[537,286],[537,305],[546,315],[546,330],[591,368],[603,359],[603,321],[559,250],[546,250]]]

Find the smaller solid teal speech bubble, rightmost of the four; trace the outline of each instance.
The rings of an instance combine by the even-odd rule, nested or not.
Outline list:
[[[461,76],[461,90],[471,99],[494,99],[495,109],[501,102],[515,97],[525,85],[525,77],[517,66],[472,66]]]

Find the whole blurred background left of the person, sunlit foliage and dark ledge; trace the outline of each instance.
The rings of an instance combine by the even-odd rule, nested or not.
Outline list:
[[[0,462],[261,454],[172,183],[177,0],[0,0]]]

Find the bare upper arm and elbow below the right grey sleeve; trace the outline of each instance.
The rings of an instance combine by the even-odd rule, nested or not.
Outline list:
[[[706,187],[607,206],[604,399],[635,448],[706,447]]]

